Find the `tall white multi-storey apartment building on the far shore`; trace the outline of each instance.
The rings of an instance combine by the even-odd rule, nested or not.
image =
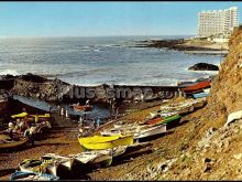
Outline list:
[[[198,13],[199,36],[228,36],[232,33],[234,26],[239,26],[239,11],[237,7]]]

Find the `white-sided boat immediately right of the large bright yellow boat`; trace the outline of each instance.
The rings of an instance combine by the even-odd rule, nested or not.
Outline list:
[[[140,132],[134,133],[134,139],[146,138],[164,132],[166,132],[166,125],[154,126],[152,128],[143,129]]]

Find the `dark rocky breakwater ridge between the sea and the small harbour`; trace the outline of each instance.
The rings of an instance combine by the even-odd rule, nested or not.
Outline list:
[[[92,103],[106,104],[116,95],[120,99],[133,99],[135,92],[151,92],[154,95],[163,92],[166,97],[174,97],[178,93],[177,86],[139,86],[139,85],[70,85],[61,79],[48,79],[43,76],[26,74],[20,76],[4,75],[0,78],[0,89],[13,95],[32,97],[51,103]],[[82,93],[81,93],[82,92]],[[89,93],[88,93],[89,92]],[[92,93],[91,93],[92,92]],[[91,95],[92,94],[92,95]],[[112,94],[112,95],[111,95]]]

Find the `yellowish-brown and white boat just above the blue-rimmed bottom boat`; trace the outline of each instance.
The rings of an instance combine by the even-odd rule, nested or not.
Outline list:
[[[37,159],[24,159],[19,163],[22,172],[46,172],[46,163]]]

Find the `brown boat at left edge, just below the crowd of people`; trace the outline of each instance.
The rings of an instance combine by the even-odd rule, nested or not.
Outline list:
[[[26,139],[20,137],[18,139],[11,140],[7,135],[0,135],[0,149],[10,149],[20,147],[26,143]]]

